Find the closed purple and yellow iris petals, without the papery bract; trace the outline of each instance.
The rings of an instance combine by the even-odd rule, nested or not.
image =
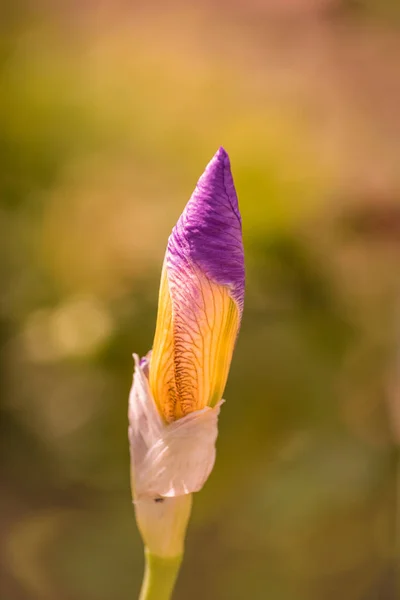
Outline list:
[[[243,310],[241,218],[229,158],[208,164],[168,241],[150,387],[170,423],[222,398]]]

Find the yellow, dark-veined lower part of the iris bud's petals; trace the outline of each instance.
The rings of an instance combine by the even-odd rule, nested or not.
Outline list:
[[[226,286],[194,267],[178,283],[171,293],[164,265],[150,388],[166,422],[222,398],[240,323]]]

